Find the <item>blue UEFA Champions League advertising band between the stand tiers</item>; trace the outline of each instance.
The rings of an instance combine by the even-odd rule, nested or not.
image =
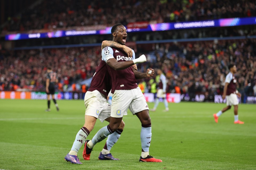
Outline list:
[[[178,30],[178,29],[193,29],[193,28],[207,28],[207,27],[230,27],[241,25],[254,25],[256,24],[256,17],[246,18],[225,18],[216,20],[203,20],[203,21],[189,21],[178,23],[157,23],[147,24],[130,23],[127,27],[127,32],[143,32],[143,31],[166,31],[166,30]],[[81,36],[81,35],[101,35],[111,34],[111,27],[106,27],[103,30],[59,30],[53,32],[43,32],[34,34],[9,34],[5,36],[5,40],[21,40],[21,39],[35,39],[35,38],[56,38],[65,36]]]

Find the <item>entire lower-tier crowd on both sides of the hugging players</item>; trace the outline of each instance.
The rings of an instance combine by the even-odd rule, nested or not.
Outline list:
[[[145,72],[149,67],[162,69],[168,79],[168,92],[221,94],[229,72],[227,66],[234,63],[239,91],[256,95],[255,39],[151,45],[151,53],[138,46],[137,54],[148,53],[148,61],[138,64],[139,71]],[[71,86],[93,76],[100,52],[100,47],[2,51],[0,89],[15,90],[17,85],[44,90],[48,66],[57,72],[62,85]],[[150,92],[153,82],[145,79],[140,83],[143,81],[145,92]]]

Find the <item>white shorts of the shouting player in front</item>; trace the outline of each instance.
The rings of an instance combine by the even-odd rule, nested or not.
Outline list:
[[[133,115],[143,110],[149,110],[139,87],[131,90],[115,90],[112,96],[111,117],[121,118],[127,115],[128,108]]]

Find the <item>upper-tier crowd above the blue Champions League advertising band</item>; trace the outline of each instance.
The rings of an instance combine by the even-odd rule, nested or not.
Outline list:
[[[9,18],[7,31],[66,29],[73,26],[132,22],[182,22],[256,16],[255,1],[239,0],[148,1],[42,1],[17,17]]]

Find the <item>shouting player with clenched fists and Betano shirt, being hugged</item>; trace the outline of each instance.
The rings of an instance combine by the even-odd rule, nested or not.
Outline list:
[[[111,33],[113,41],[125,44],[127,38],[127,30],[122,24],[116,24],[112,27]],[[112,106],[111,117],[108,126],[101,128],[96,135],[86,144],[86,149],[91,150],[94,145],[108,135],[113,134],[119,127],[123,115],[127,115],[127,110],[136,115],[141,122],[141,162],[162,162],[149,155],[149,146],[151,142],[151,119],[149,117],[148,105],[136,79],[152,77],[153,69],[147,69],[147,73],[135,71],[132,67],[117,71],[115,65],[122,61],[135,61],[135,54],[129,57],[122,49],[105,47],[102,51],[102,59],[107,63],[108,72],[112,81]]]

